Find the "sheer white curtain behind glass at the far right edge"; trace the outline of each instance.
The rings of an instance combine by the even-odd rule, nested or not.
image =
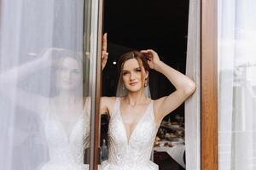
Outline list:
[[[219,170],[256,169],[255,8],[218,0]]]

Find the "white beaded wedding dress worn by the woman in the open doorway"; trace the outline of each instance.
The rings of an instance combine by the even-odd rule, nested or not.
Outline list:
[[[143,117],[127,139],[125,124],[120,115],[120,99],[114,104],[108,126],[108,160],[102,162],[101,170],[158,170],[150,161],[154,138],[158,127],[154,121],[153,100]]]

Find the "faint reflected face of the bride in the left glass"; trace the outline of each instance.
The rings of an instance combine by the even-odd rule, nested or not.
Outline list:
[[[82,71],[76,59],[67,57],[56,71],[56,86],[61,90],[75,90],[82,82]]]

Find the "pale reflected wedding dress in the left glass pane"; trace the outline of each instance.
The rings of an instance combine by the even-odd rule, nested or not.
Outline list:
[[[40,170],[86,170],[84,149],[89,146],[90,105],[85,102],[83,114],[74,123],[69,136],[55,113],[54,105],[42,117],[49,150],[49,161]]]

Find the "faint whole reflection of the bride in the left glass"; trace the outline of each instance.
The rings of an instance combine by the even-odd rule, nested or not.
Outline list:
[[[0,83],[6,87],[0,93],[12,99],[6,89],[13,86],[17,93],[16,98],[12,99],[15,105],[36,113],[44,125],[48,158],[37,169],[88,169],[88,165],[84,164],[84,149],[89,147],[90,141],[90,99],[82,95],[82,69],[81,54],[67,49],[49,48],[38,59],[0,75]],[[15,87],[17,72],[18,80],[22,82],[42,70],[54,74],[51,81],[55,85],[47,89],[49,95],[39,95]],[[45,78],[44,86],[48,86],[48,83],[49,77]]]

